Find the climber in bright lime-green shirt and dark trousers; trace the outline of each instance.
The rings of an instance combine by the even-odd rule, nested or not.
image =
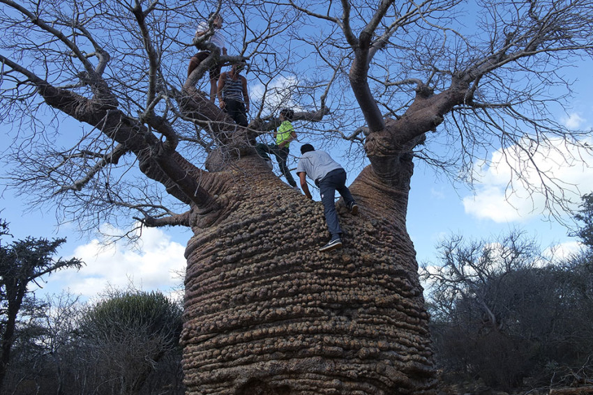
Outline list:
[[[293,116],[294,111],[292,111],[292,109],[280,110],[279,118],[281,123],[273,132],[273,138],[274,141],[276,141],[276,144],[258,143],[255,145],[255,150],[257,150],[257,153],[261,157],[267,160],[270,159],[268,154],[273,154],[276,157],[278,166],[280,166],[280,172],[286,178],[287,183],[289,183],[291,187],[299,189],[299,187],[296,186],[294,178],[292,178],[292,174],[290,174],[287,165],[288,154],[290,153],[290,141],[296,139],[296,132],[294,132],[294,127],[292,127],[292,123],[290,123]]]

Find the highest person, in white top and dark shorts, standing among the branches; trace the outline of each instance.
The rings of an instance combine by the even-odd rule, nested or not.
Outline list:
[[[209,21],[212,21],[212,26],[209,26]],[[218,13],[210,13],[208,17],[208,21],[200,22],[197,26],[195,31],[195,38],[210,35],[208,40],[204,43],[211,42],[216,47],[220,48],[220,52],[223,55],[227,54],[227,48],[225,47],[225,37],[222,33],[220,33],[220,28],[223,27],[223,17],[221,17]],[[210,51],[201,51],[195,54],[190,59],[190,64],[188,66],[188,77],[190,74],[197,68],[200,63],[202,63],[208,56],[210,56]],[[216,99],[216,93],[218,90],[218,78],[220,77],[220,70],[222,69],[222,65],[217,62],[209,70],[209,77],[210,77],[210,101],[214,102]]]

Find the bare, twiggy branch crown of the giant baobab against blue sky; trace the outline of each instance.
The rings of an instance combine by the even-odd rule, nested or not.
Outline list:
[[[0,3],[1,116],[13,125],[6,158],[19,163],[10,183],[33,204],[59,203],[61,218],[82,229],[131,217],[179,224],[194,199],[183,190],[209,205],[203,189],[179,181],[183,166],[158,153],[202,166],[215,148],[241,150],[217,132],[234,126],[220,125],[216,108],[183,109],[182,86],[207,68],[186,81],[193,31],[212,10],[223,14],[229,47],[218,61],[249,63],[256,133],[294,107],[302,140],[340,146],[354,168],[366,155],[386,178],[398,147],[468,179],[489,150],[509,148],[525,154],[515,182],[536,152],[590,150],[585,132],[550,116],[569,93],[566,68],[592,54],[590,1]],[[87,126],[75,132],[68,117]],[[147,170],[154,161],[166,176]],[[564,207],[554,186],[566,185],[540,177],[530,190]]]

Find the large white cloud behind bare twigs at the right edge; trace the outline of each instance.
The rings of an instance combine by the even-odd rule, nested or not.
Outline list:
[[[591,146],[593,139],[581,142]],[[539,145],[525,139],[521,145],[527,150],[518,146],[497,150],[490,164],[481,166],[476,174],[481,182],[475,194],[463,198],[467,214],[499,223],[540,215],[546,209],[541,173],[550,178],[546,182],[553,193],[564,194],[573,203],[579,203],[580,196],[590,192],[591,152],[566,144],[562,139],[550,139],[548,144]]]

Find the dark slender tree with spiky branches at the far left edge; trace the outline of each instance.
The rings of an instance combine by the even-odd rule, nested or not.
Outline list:
[[[0,237],[8,234],[5,222]],[[64,268],[82,267],[77,258],[66,260],[53,256],[66,239],[27,238],[3,245],[0,239],[0,389],[6,377],[10,351],[15,343],[19,313],[26,302],[32,284],[43,281],[43,276]],[[31,305],[31,302],[27,303]],[[30,315],[29,315],[30,316]]]

